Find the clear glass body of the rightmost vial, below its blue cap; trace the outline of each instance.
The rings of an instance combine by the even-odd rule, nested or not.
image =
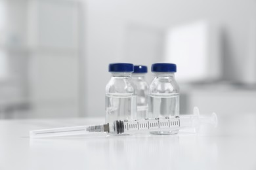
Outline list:
[[[179,86],[174,73],[154,73],[155,77],[149,88],[150,118],[179,116]],[[174,131],[155,131],[154,134],[176,134]]]

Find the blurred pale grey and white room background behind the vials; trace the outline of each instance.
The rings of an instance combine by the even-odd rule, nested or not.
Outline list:
[[[104,116],[108,63],[160,61],[181,113],[256,113],[256,1],[0,0],[0,119]]]

